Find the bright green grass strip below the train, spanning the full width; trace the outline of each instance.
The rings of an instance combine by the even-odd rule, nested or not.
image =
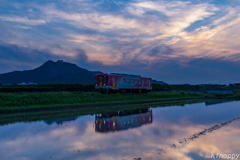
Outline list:
[[[173,99],[240,99],[240,94],[152,92],[148,94],[100,94],[94,92],[0,93],[0,111],[85,104],[139,102]]]

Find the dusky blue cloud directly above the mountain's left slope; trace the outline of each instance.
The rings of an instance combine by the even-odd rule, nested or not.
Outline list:
[[[0,73],[13,70],[29,70],[42,65],[49,59],[67,59],[67,56],[59,56],[51,53],[48,49],[35,49],[19,47],[16,44],[0,42]]]

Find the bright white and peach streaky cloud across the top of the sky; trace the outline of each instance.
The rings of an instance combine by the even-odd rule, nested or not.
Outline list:
[[[67,13],[56,9],[55,6],[43,8],[43,12],[50,18],[64,19],[68,23],[78,28],[91,28],[101,32],[121,30],[121,33],[131,30],[132,35],[141,34],[176,34],[188,27],[191,23],[209,17],[217,11],[213,5],[201,4],[193,5],[189,2],[171,2],[171,3],[156,3],[156,2],[141,2],[130,3],[126,7],[131,13],[145,13],[144,9],[156,10],[163,12],[168,16],[167,21],[161,20],[161,17],[156,15],[145,15],[139,18],[132,18],[122,14],[106,14],[97,11],[91,13]],[[134,10],[134,11],[133,11]],[[147,12],[146,11],[146,12]]]

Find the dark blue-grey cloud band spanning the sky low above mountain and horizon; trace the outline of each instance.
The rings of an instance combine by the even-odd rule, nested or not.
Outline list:
[[[130,44],[131,46],[131,44]],[[55,44],[52,47],[60,50],[62,46]],[[59,60],[78,64],[89,70],[100,70],[104,72],[122,72],[129,74],[140,74],[163,80],[167,83],[225,83],[238,81],[236,74],[240,70],[238,62],[224,59],[209,59],[189,57],[169,58],[174,51],[169,46],[146,48],[142,52],[150,54],[151,61],[129,56],[87,53],[83,49],[75,49],[74,57],[56,55],[52,50],[36,50],[19,47],[14,44],[0,45],[1,73],[13,70],[28,70],[40,66],[45,61]],[[165,53],[166,52],[166,53]],[[157,57],[157,58],[156,58]],[[240,57],[240,53],[238,57]],[[236,57],[234,57],[236,58]],[[11,65],[10,65],[11,64]]]

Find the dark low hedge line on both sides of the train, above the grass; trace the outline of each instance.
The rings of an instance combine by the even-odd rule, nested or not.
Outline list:
[[[237,89],[233,85],[166,85],[153,84],[153,91],[189,91],[205,89]],[[16,92],[94,92],[94,84],[38,84],[38,85],[0,85],[1,93]]]

